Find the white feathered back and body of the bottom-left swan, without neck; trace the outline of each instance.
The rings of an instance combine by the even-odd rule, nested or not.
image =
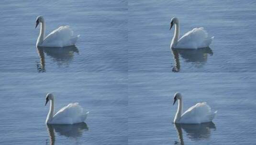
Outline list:
[[[61,108],[53,117],[51,124],[77,124],[85,121],[87,112],[78,103],[70,103]]]

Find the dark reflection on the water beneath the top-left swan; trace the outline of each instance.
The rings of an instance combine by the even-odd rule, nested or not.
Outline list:
[[[68,65],[74,58],[74,52],[79,54],[76,46],[67,47],[37,47],[40,62],[36,62],[37,71],[46,72],[45,69],[45,53],[50,56],[58,65]]]

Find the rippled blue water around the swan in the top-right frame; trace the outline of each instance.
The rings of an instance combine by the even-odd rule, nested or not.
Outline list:
[[[256,72],[255,0],[129,0],[128,5],[129,72]],[[173,55],[172,17],[180,21],[181,36],[204,27],[214,36],[211,50]]]

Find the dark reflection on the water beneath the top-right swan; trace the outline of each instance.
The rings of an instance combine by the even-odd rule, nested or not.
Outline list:
[[[185,62],[194,62],[196,67],[200,68],[207,62],[208,54],[213,55],[213,52],[210,47],[201,48],[201,49],[171,49],[173,58],[174,58],[174,66],[172,68],[172,72],[180,71],[180,61],[179,56],[185,59]]]

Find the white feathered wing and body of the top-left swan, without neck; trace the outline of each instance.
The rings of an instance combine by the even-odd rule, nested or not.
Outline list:
[[[69,26],[60,26],[47,35],[43,41],[45,47],[65,47],[75,45],[78,36],[74,36],[74,32]]]

